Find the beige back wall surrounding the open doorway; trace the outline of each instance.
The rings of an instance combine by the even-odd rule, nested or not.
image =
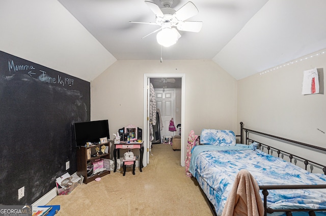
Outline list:
[[[91,82],[91,120],[107,118],[111,134],[143,129],[144,74],[174,73],[185,74],[184,140],[191,130],[236,130],[236,80],[211,60],[118,60]]]

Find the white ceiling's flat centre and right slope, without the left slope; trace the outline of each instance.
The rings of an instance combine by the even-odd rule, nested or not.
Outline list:
[[[59,0],[118,60],[160,59],[155,15],[143,0]],[[161,5],[159,0],[153,3]],[[165,1],[167,2],[167,1]],[[175,0],[178,10],[187,0]],[[236,79],[326,48],[324,0],[193,0],[199,33],[182,32],[163,59],[213,59]]]

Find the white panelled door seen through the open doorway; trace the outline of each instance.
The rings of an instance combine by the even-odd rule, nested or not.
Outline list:
[[[171,118],[174,118],[175,107],[175,89],[173,88],[155,88],[156,108],[159,109],[162,119],[163,129],[160,132],[161,139],[164,135],[174,135],[169,131]]]

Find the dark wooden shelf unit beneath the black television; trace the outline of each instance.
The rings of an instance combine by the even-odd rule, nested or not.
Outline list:
[[[87,159],[87,149],[91,149],[92,154],[96,153],[95,148],[98,146],[101,149],[102,145],[108,146],[108,152],[102,153],[99,156],[91,157]],[[98,160],[101,158],[110,159],[110,142],[99,144],[99,145],[92,145],[89,147],[80,146],[77,147],[76,150],[76,158],[77,158],[77,174],[82,175],[84,177],[84,183],[91,182],[95,180],[97,177],[102,177],[104,175],[110,174],[110,170],[104,170],[102,172],[96,173],[95,175],[87,176],[87,164],[91,161]]]

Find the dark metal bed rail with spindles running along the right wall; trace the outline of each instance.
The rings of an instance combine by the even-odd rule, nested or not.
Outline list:
[[[243,132],[245,132],[245,136],[243,134]],[[283,151],[283,150],[280,150],[278,148],[275,148],[275,147],[272,147],[272,146],[269,146],[267,144],[264,144],[264,143],[261,143],[259,141],[256,141],[256,140],[253,140],[253,139],[250,139],[249,138],[249,132],[253,133],[253,134],[256,134],[256,135],[261,135],[261,136],[264,136],[264,137],[267,137],[267,138],[270,138],[270,139],[274,139],[274,140],[279,140],[279,141],[285,141],[285,142],[288,142],[288,143],[293,143],[293,144],[296,144],[298,146],[306,146],[306,147],[310,147],[312,149],[317,149],[319,151],[322,151],[322,152],[325,152],[326,153],[326,148],[323,148],[323,147],[319,147],[319,146],[315,146],[315,145],[311,145],[311,144],[307,144],[307,143],[303,143],[303,142],[298,142],[298,141],[295,141],[295,140],[291,140],[291,139],[287,139],[287,138],[284,138],[284,137],[278,137],[278,136],[275,136],[275,135],[270,135],[270,134],[266,134],[266,133],[262,133],[262,132],[259,132],[259,131],[254,131],[254,130],[251,130],[251,129],[248,129],[248,128],[244,128],[243,127],[243,122],[240,122],[240,143],[242,144],[249,144],[249,142],[258,142],[259,143],[259,148],[261,146],[265,146],[266,149],[267,149],[267,153],[270,154],[270,150],[275,150],[277,153],[278,153],[278,157],[280,157],[281,154],[283,155],[287,155],[290,159],[290,162],[292,163],[292,159],[293,158],[297,158],[297,159],[300,159],[304,162],[305,164],[305,169],[307,170],[307,167],[310,164],[313,164],[317,167],[319,167],[320,169],[322,169],[322,171],[324,172],[324,174],[326,175],[326,166],[325,165],[321,165],[319,163],[316,163],[316,162],[313,162],[313,161],[310,161],[310,160],[307,160],[307,159],[304,159],[300,156],[295,156],[293,155],[292,153],[289,153],[289,152],[286,152],[286,151]],[[245,139],[244,139],[245,138]],[[244,139],[244,140],[243,140]]]

